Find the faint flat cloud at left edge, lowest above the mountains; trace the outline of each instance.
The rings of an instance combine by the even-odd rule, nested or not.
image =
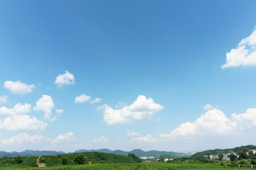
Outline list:
[[[42,139],[44,139],[42,135],[30,136],[27,133],[19,133],[18,135],[14,135],[9,139],[2,139],[1,144],[14,145],[14,144],[20,144],[20,143],[27,143],[27,142],[35,143],[36,141],[41,141]]]

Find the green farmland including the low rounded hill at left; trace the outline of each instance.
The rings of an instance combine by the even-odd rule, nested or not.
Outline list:
[[[84,155],[85,164],[76,165],[74,159],[77,154]],[[22,156],[23,162],[20,164],[13,164],[11,160],[13,157],[0,158],[0,169],[38,169],[36,162],[39,157],[44,158],[46,167],[40,169],[248,169],[248,168],[231,168],[227,163],[224,167],[220,162],[203,163],[198,161],[193,162],[156,162],[156,163],[135,163],[128,156],[107,154],[104,152],[82,152],[75,154],[64,154],[55,156]],[[61,157],[67,157],[67,165],[63,165]],[[252,168],[249,168],[252,169]],[[254,168],[256,169],[256,167]]]

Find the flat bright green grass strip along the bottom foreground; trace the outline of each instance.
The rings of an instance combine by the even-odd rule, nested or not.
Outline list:
[[[185,163],[185,162],[174,162],[174,163],[105,163],[105,164],[86,164],[86,165],[59,165],[59,166],[51,166],[51,167],[43,167],[40,169],[49,169],[49,170],[85,170],[85,169],[131,169],[131,170],[141,170],[141,169],[210,169],[210,170],[218,170],[218,169],[252,169],[252,168],[230,168],[227,167],[226,163],[224,163],[225,167],[222,167],[220,163]],[[0,167],[0,169],[38,169],[38,167]],[[255,168],[254,168],[255,169]]]

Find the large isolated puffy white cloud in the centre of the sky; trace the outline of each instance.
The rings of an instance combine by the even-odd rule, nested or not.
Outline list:
[[[109,125],[131,122],[143,122],[150,120],[154,113],[163,109],[160,104],[154,103],[151,98],[140,95],[130,106],[114,110],[109,105],[103,105],[98,109],[104,109],[104,122]]]

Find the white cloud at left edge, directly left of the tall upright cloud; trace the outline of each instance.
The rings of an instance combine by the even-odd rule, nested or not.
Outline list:
[[[31,112],[31,105],[30,104],[16,104],[14,108],[8,109],[6,107],[0,108],[0,116],[12,116],[16,114],[27,114]]]

